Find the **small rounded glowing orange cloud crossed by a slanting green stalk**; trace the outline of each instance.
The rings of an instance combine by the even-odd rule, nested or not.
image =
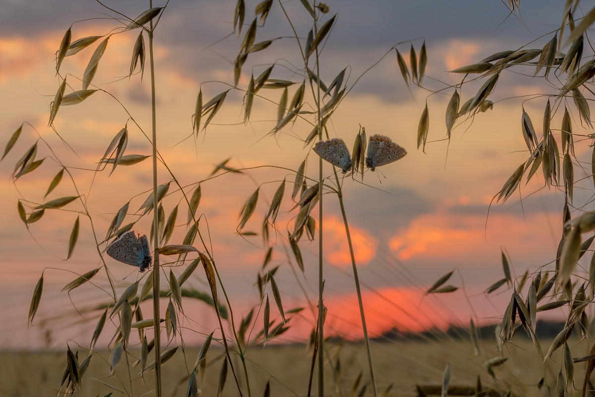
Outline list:
[[[326,260],[335,266],[349,266],[351,256],[345,225],[338,217],[327,217],[324,219],[324,251]],[[367,265],[376,256],[378,243],[366,230],[358,229],[349,225],[351,242],[355,262],[358,265]]]

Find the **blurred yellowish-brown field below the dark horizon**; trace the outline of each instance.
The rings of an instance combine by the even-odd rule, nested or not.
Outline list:
[[[549,348],[550,340],[543,340],[545,351]],[[572,343],[574,357],[587,354],[588,343],[575,341]],[[519,339],[515,345],[503,347],[503,357],[509,357],[505,364],[495,367],[492,378],[483,363],[499,353],[495,343],[491,340],[481,344],[481,354],[474,357],[474,351],[468,340],[444,339],[429,341],[394,341],[381,342],[372,345],[375,371],[377,372],[378,392],[381,393],[391,383],[390,396],[415,396],[415,385],[440,385],[447,362],[452,370],[451,385],[475,386],[477,376],[481,376],[483,387],[499,387],[500,390],[513,390],[513,395],[546,396],[549,395],[547,385],[552,395],[555,395],[556,379],[560,370],[557,351],[552,356],[553,361],[541,367],[540,359],[534,354],[535,348],[530,341]],[[112,396],[126,395],[129,390],[128,374],[124,359],[118,366],[118,377],[109,378],[109,367],[105,360],[109,360],[108,352],[94,354],[89,370],[83,377],[82,396],[104,396],[114,392]],[[206,372],[199,377],[199,389],[203,396],[217,396],[217,387],[223,363],[223,351],[218,348],[209,350],[206,362]],[[327,352],[327,376],[325,389],[328,396],[355,396],[365,383],[369,383],[365,349],[360,343],[331,343]],[[134,351],[136,357],[137,352]],[[181,396],[186,392],[187,371],[191,371],[198,357],[198,348],[179,349],[170,361],[163,366],[164,395]],[[250,374],[250,389],[252,396],[262,396],[267,382],[270,382],[272,396],[306,396],[308,395],[308,375],[311,365],[311,352],[306,351],[305,345],[268,345],[265,348],[255,346],[246,354],[248,371]],[[237,358],[237,357],[236,357]],[[187,365],[184,365],[183,361]],[[337,360],[339,365],[337,366]],[[82,359],[80,360],[82,361]],[[130,357],[130,363],[135,361]],[[557,364],[556,364],[557,363]],[[239,359],[234,367],[240,367]],[[0,395],[7,397],[24,396],[52,396],[60,384],[65,368],[65,354],[63,352],[0,352]],[[184,371],[183,368],[187,368]],[[338,376],[333,376],[331,368],[339,368]],[[575,364],[575,386],[580,389],[584,376],[585,363]],[[362,372],[361,383],[352,391],[353,385]],[[537,383],[546,376],[546,385],[540,389]],[[154,384],[153,373],[145,374],[144,382],[139,375],[139,369],[134,368],[132,377],[135,383],[134,395],[152,395]],[[243,385],[243,376],[239,374]],[[117,379],[120,382],[117,382]],[[105,382],[105,383],[104,383]],[[233,385],[233,376],[228,371],[227,382],[222,396],[238,396]],[[107,385],[111,385],[109,387]],[[526,385],[526,386],[525,386]],[[243,385],[244,386],[244,385]],[[244,387],[245,389],[245,387]],[[570,391],[570,390],[569,390]],[[130,390],[128,391],[130,393]],[[317,379],[314,377],[312,395],[317,395]],[[77,393],[79,395],[79,393]],[[365,390],[366,396],[372,395],[371,386]],[[571,395],[580,395],[574,390]]]

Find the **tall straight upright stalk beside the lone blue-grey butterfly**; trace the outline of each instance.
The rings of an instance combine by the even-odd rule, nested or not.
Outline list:
[[[149,8],[153,7],[153,1],[149,0]],[[155,104],[155,62],[153,58],[153,21],[149,25],[149,64],[151,66],[151,118],[152,118],[152,146],[153,146],[153,246],[155,255],[153,260],[153,318],[154,318],[154,340],[155,340],[155,397],[161,397],[161,323],[159,318],[159,230],[158,224],[158,200],[157,200],[157,118]]]

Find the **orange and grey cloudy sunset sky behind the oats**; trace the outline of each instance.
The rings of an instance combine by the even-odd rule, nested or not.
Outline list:
[[[146,2],[140,1],[123,5],[112,3],[109,7],[132,18],[148,8]],[[193,183],[207,179],[215,165],[227,158],[231,158],[227,163],[229,167],[254,167],[243,174],[230,173],[203,182],[197,212],[204,215],[201,231],[210,238],[208,245],[212,246],[224,284],[232,302],[238,305],[237,317],[245,314],[252,305],[258,305],[256,272],[261,270],[267,251],[260,235],[237,235],[238,214],[246,199],[260,187],[258,207],[244,228],[244,231],[260,233],[268,204],[283,179],[287,185],[277,219],[278,235],[271,235],[271,242],[279,245],[267,269],[280,265],[275,279],[288,309],[305,305],[304,292],[309,299],[317,299],[318,241],[308,242],[303,238],[300,242],[306,272],[298,277],[299,285],[288,265],[289,246],[284,248],[281,244],[286,240],[287,230],[292,230],[296,215],[295,211],[289,212],[293,207],[289,198],[295,173],[288,170],[297,170],[307,157],[308,177],[318,177],[318,157],[311,150],[312,145],[305,148],[303,145],[303,139],[312,130],[308,121],[313,119],[300,120],[275,135],[267,135],[276,123],[277,106],[273,102],[279,101],[281,90],[259,92],[269,101],[257,98],[250,123],[244,124],[243,92],[232,89],[206,130],[198,137],[192,136],[192,115],[199,89],[202,89],[206,102],[233,88],[231,62],[252,21],[257,3],[248,1],[246,4],[246,26],[240,39],[231,35],[235,3],[220,0],[171,1],[155,33],[158,146],[181,185],[189,186],[186,192],[191,193]],[[478,114],[472,123],[470,120],[458,121],[450,144],[445,140],[444,112],[453,92],[448,85],[460,83],[463,77],[447,71],[478,62],[495,52],[516,50],[532,40],[536,42],[525,48],[542,48],[551,38],[549,33],[560,26],[562,3],[522,2],[522,16],[519,16],[508,15],[508,9],[499,0],[328,2],[331,14],[337,13],[338,17],[321,52],[320,76],[328,85],[347,67],[344,84],[353,87],[327,123],[331,137],[341,137],[351,149],[361,125],[368,137],[375,133],[389,136],[408,151],[405,158],[384,165],[377,172],[367,170],[363,185],[361,176],[355,180],[345,176],[342,182],[364,285],[364,303],[369,309],[369,329],[374,335],[393,326],[417,331],[431,325],[445,326],[449,322],[466,325],[471,315],[481,323],[493,321],[492,318],[503,311],[510,296],[509,292],[496,293],[489,299],[483,295],[488,286],[503,277],[502,248],[511,259],[513,277],[520,277],[527,269],[531,273],[544,265],[548,265],[549,270],[553,268],[550,262],[555,258],[561,232],[562,191],[541,189],[544,182],[538,173],[527,186],[522,182],[522,202],[517,192],[503,205],[494,201],[488,214],[493,196],[527,158],[521,133],[522,106],[531,115],[538,135],[541,133],[547,99],[521,103],[523,96],[549,93],[549,87],[541,79],[528,77],[533,74],[533,69],[524,70],[528,76],[503,73],[491,98],[493,110]],[[3,150],[21,123],[32,124],[61,161],[73,167],[73,177],[80,194],[87,198],[93,227],[101,242],[115,212],[130,199],[129,216],[124,224],[137,218],[134,212],[152,187],[152,168],[151,158],[148,158],[131,167],[118,167],[108,177],[108,169],[93,172],[96,163],[112,137],[125,124],[129,127],[126,154],[149,155],[151,145],[129,120],[123,107],[104,92],[95,92],[82,104],[60,108],[54,126],[68,146],[47,124],[49,104],[60,85],[55,76],[55,52],[64,32],[71,23],[80,21],[72,26],[73,40],[76,40],[106,35],[121,24],[109,18],[114,16],[113,12],[90,0],[2,0],[1,4],[0,148]],[[155,7],[162,5],[154,3]],[[303,43],[311,27],[308,12],[297,0],[285,2],[284,6]],[[325,15],[323,21],[331,14]],[[138,34],[139,31],[134,30],[110,37],[93,85],[118,98],[149,134],[151,85],[148,65],[142,81],[139,74],[127,78],[131,51]],[[242,68],[238,87],[245,89],[250,73],[256,77],[273,62],[277,67],[271,78],[301,82],[293,73],[296,67],[302,67],[302,60],[296,40],[291,36],[292,29],[275,2],[264,27],[258,28],[256,42],[282,38],[275,40],[265,51],[250,54]],[[409,40],[413,40],[419,54],[424,39],[428,52],[428,66],[422,82],[424,88],[411,86],[410,92],[400,75],[394,50],[389,51],[397,45],[409,62]],[[70,86],[67,93],[81,89],[83,71],[101,40],[103,38],[62,62],[60,72],[63,76],[67,74]],[[383,58],[387,52],[389,54]],[[380,62],[364,74],[377,61]],[[483,81],[465,85],[461,103],[474,96],[481,84]],[[445,90],[440,95],[428,96],[432,90],[439,89]],[[290,99],[293,92],[295,86],[289,88]],[[426,102],[430,110],[430,133],[424,154],[421,148],[417,149],[417,127]],[[311,105],[312,101],[306,99],[304,109]],[[552,125],[558,129],[555,131],[557,139],[562,114],[563,110],[556,108]],[[578,133],[590,133],[581,130],[578,115],[573,119],[573,126]],[[70,211],[46,211],[40,221],[30,225],[29,231],[18,216],[19,198],[35,206],[49,199],[77,195],[65,176],[54,192],[43,198],[52,177],[60,170],[51,158],[33,173],[12,183],[15,162],[35,140],[35,131],[25,125],[17,144],[0,162],[3,176],[0,178],[0,202],[4,208],[0,212],[0,299],[4,302],[0,310],[2,318],[8,319],[0,326],[0,348],[13,343],[29,345],[31,340],[37,341],[33,342],[34,347],[43,346],[45,329],[39,326],[43,319],[50,319],[54,314],[65,315],[49,321],[48,325],[54,328],[71,326],[79,321],[79,317],[67,317],[68,313],[74,313],[75,306],[85,308],[93,302],[109,299],[104,292],[90,286],[74,290],[70,297],[73,303],[65,292],[60,293],[62,287],[79,274],[100,264],[89,220],[83,215],[80,217],[78,245],[73,257],[64,261],[76,211],[82,210],[79,202],[65,207]],[[587,145],[577,145],[576,155],[590,161],[590,150]],[[37,158],[49,155],[48,148],[40,146]],[[325,162],[323,166],[324,175],[331,176],[330,164]],[[575,168],[575,179],[579,179],[581,172]],[[170,179],[164,167],[160,167],[158,183],[167,183]],[[173,194],[164,199],[163,204],[166,217],[179,205],[176,232],[170,243],[181,243],[187,230],[183,224],[187,207],[175,190],[172,183],[170,193]],[[588,191],[578,190],[575,201],[584,201],[587,194]],[[29,213],[30,207],[26,208]],[[313,214],[318,218],[318,210]],[[358,337],[361,324],[336,196],[324,196],[324,214],[327,325],[343,335]],[[143,217],[135,230],[149,235],[151,218]],[[201,248],[198,240],[195,245]],[[105,249],[105,243],[100,248]],[[106,261],[119,283],[118,292],[139,277],[134,268],[107,255]],[[162,257],[162,262],[168,261],[169,257]],[[299,272],[295,261],[293,266]],[[449,296],[423,297],[428,286],[453,269],[457,271],[448,283],[464,289]],[[174,273],[180,274],[182,270],[175,268]],[[30,298],[42,271],[45,285],[35,321],[38,326],[27,330]],[[169,268],[165,268],[165,272],[164,282]],[[105,273],[101,273],[101,280],[94,281],[107,287]],[[141,285],[143,282],[144,279]],[[197,270],[188,284],[207,290],[202,270]],[[148,310],[145,318],[151,317]],[[197,306],[197,313],[207,312],[208,308]],[[93,317],[87,320],[89,323],[84,327],[92,330],[96,320]],[[209,333],[213,327],[215,323],[201,324],[196,325],[196,330]],[[309,324],[303,326],[306,333],[309,327]],[[75,334],[73,331],[67,337]],[[52,343],[61,346],[61,338]]]

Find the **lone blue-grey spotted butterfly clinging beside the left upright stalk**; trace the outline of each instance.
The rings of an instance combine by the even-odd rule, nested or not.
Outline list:
[[[145,271],[153,260],[147,236],[136,236],[133,230],[118,236],[106,252],[117,261],[139,267],[140,271]]]

